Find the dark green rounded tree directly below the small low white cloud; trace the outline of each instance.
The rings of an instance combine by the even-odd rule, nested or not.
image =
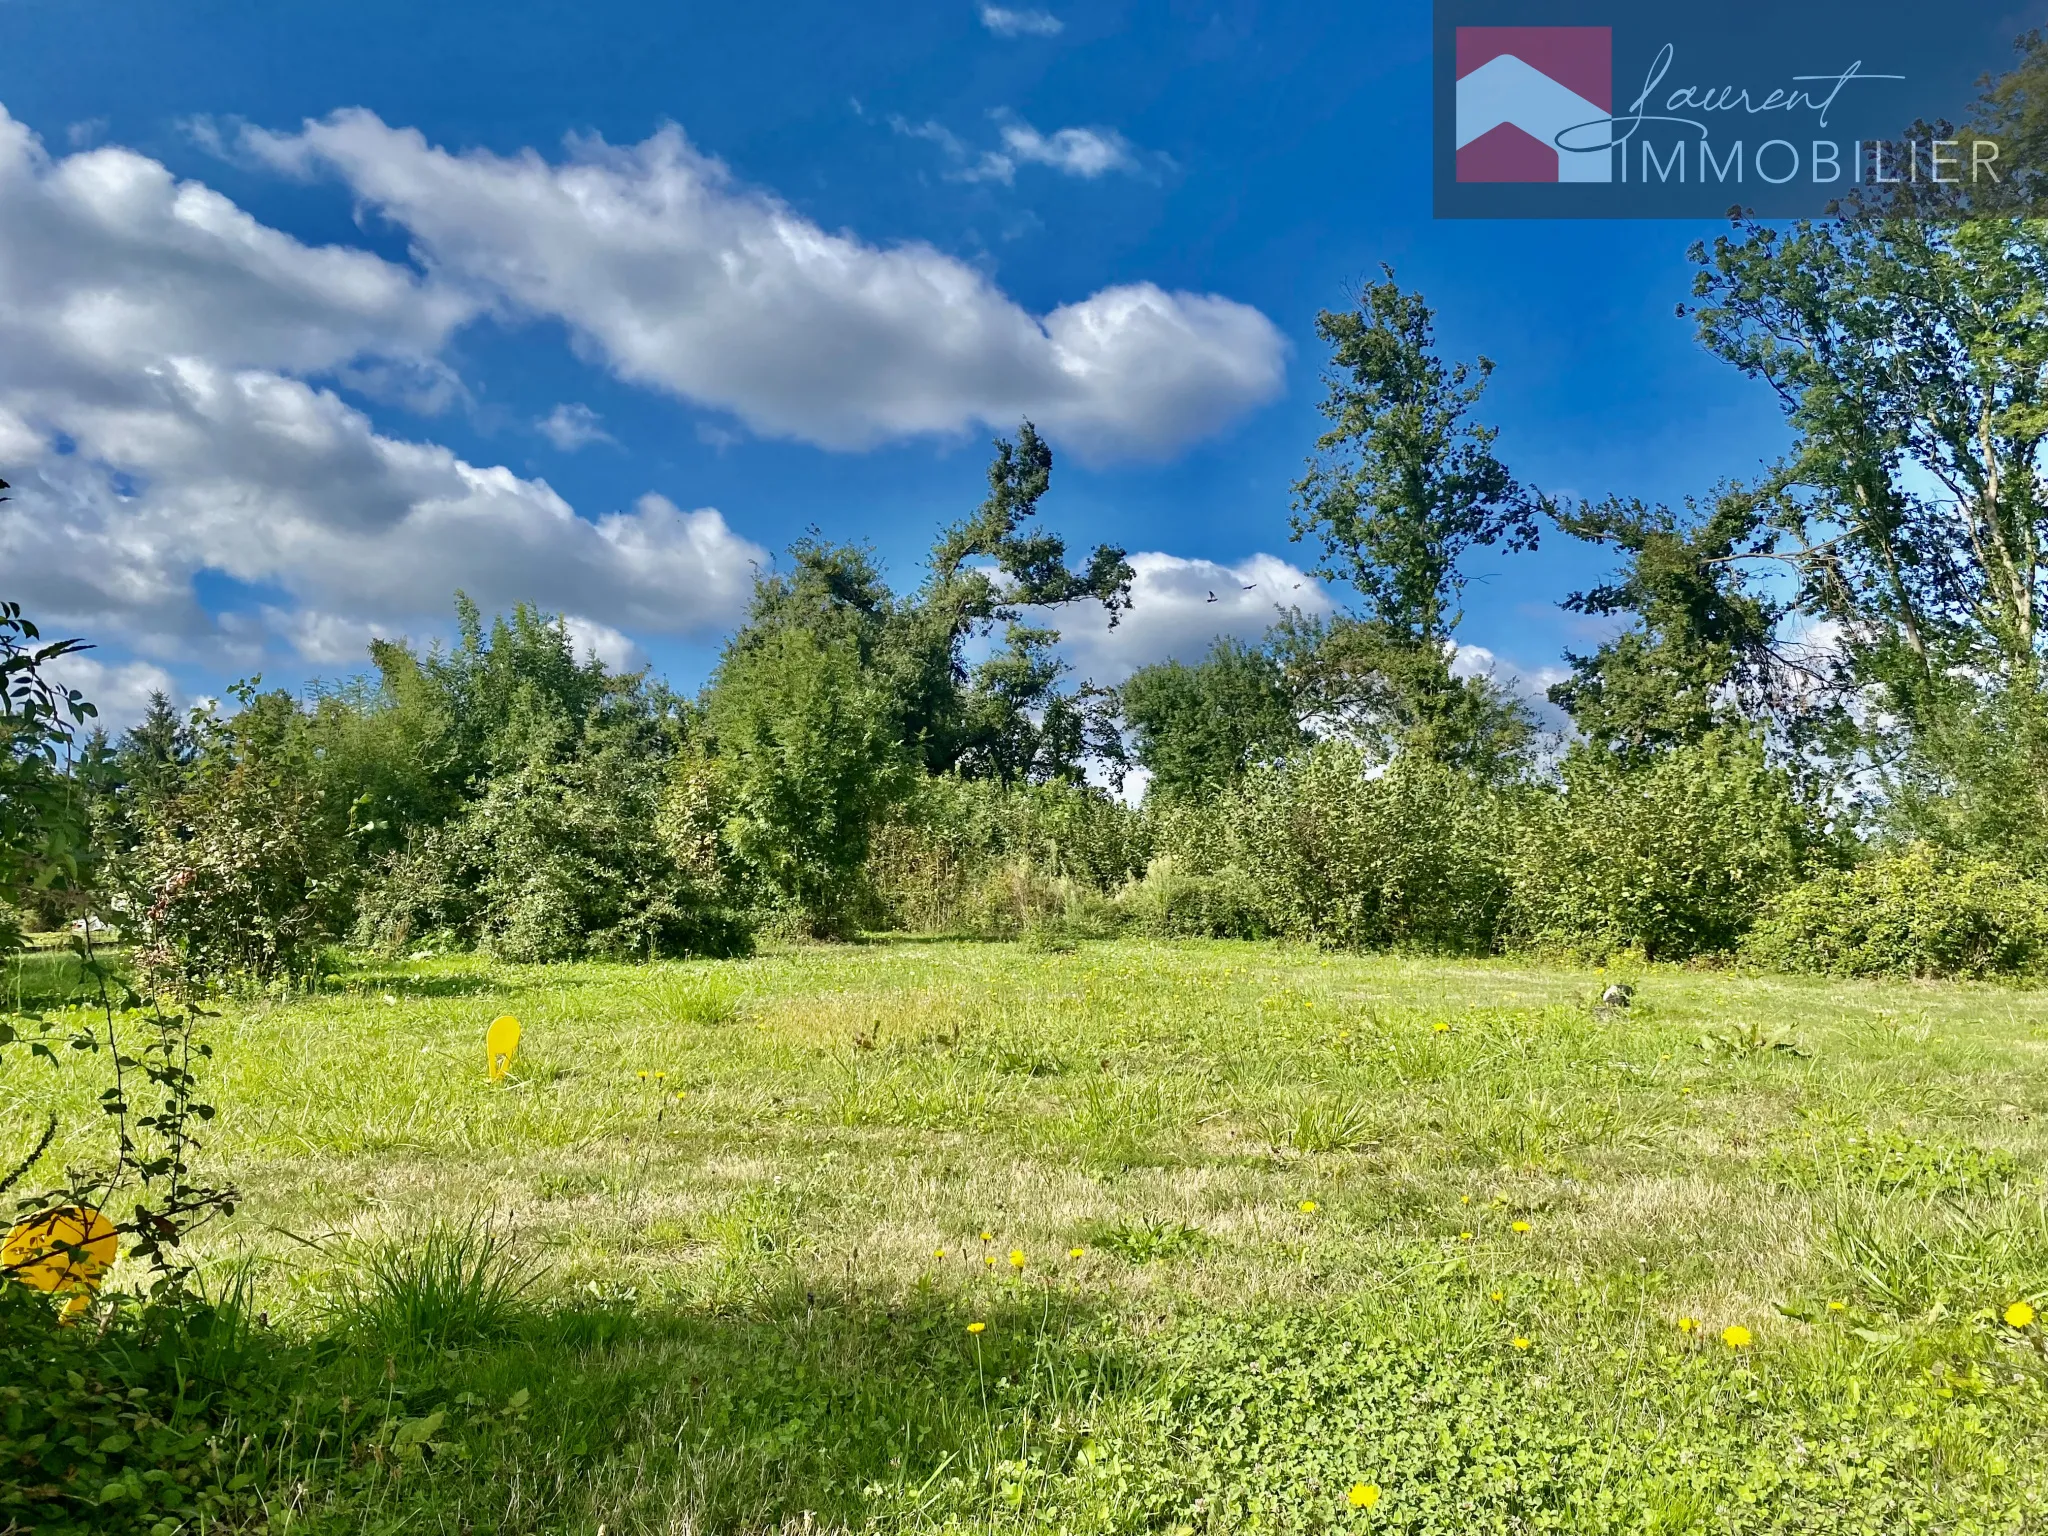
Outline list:
[[[1194,666],[1139,668],[1118,698],[1135,756],[1151,772],[1147,795],[1163,799],[1210,797],[1307,741],[1280,664],[1229,637]]]

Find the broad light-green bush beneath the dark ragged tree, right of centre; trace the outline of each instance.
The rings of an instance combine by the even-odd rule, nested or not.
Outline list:
[[[1823,850],[1823,827],[1747,735],[1630,760],[1577,745],[1513,846],[1518,944],[1679,961],[1735,948]]]

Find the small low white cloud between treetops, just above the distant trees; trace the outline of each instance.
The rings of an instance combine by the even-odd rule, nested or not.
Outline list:
[[[1116,684],[1153,662],[1200,662],[1221,637],[1253,641],[1286,608],[1327,614],[1329,594],[1276,555],[1235,565],[1159,551],[1130,555],[1130,612],[1116,629],[1102,610],[1065,610],[1055,623],[1075,672]]]

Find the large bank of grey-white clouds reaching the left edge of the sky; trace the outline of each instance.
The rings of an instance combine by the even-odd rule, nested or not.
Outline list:
[[[727,623],[762,551],[717,512],[649,496],[586,520],[545,481],[377,432],[297,377],[436,377],[479,305],[440,274],[303,246],[133,152],[51,160],[0,111],[8,596],[53,633],[236,664],[272,645],[360,659],[371,633],[446,614],[457,586],[647,631]],[[201,573],[252,606],[209,616]]]

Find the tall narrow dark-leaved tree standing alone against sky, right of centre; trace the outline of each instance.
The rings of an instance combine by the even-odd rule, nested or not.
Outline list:
[[[1331,348],[1331,426],[1294,485],[1292,530],[1321,543],[1315,573],[1350,586],[1358,608],[1329,625],[1294,621],[1292,666],[1366,735],[1442,762],[1491,758],[1516,711],[1487,680],[1452,672],[1462,559],[1534,549],[1546,506],[1473,418],[1493,362],[1438,356],[1436,313],[1391,268],[1356,309],[1321,313],[1317,334]]]

